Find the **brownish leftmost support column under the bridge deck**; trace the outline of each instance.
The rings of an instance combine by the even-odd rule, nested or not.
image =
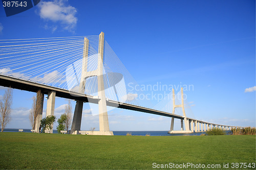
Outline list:
[[[36,92],[36,121],[35,121],[35,130],[36,133],[39,133],[39,126],[42,119],[42,108],[44,107],[44,93],[41,90]]]

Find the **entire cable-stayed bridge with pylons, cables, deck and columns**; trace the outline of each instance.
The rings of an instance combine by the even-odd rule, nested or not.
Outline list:
[[[84,102],[99,106],[98,135],[113,135],[109,128],[106,106],[172,117],[169,133],[191,133],[221,127],[187,117],[181,88],[179,104],[174,90],[154,108],[137,83],[116,56],[104,33],[96,36],[0,40],[0,85],[37,93],[38,131],[42,118],[44,95],[47,94],[47,115],[54,115],[55,97],[76,101],[71,134],[80,132]],[[176,108],[182,114],[176,114]],[[174,119],[180,119],[181,130],[174,130]],[[240,127],[235,127],[240,128]]]

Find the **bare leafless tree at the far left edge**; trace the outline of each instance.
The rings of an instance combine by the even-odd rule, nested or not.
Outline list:
[[[0,101],[0,124],[2,125],[2,132],[5,126],[11,120],[11,106],[12,106],[12,89],[8,88],[3,96],[3,101]]]

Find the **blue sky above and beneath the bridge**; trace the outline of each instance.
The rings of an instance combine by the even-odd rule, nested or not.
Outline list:
[[[9,17],[0,7],[0,39],[101,31],[138,84],[193,85],[185,93],[195,118],[255,127],[255,1],[41,1]],[[14,90],[7,128],[30,128],[33,95]],[[56,99],[57,118],[65,104]],[[110,110],[109,120],[113,131],[170,127],[168,117],[122,109]],[[98,116],[83,115],[81,129],[91,127],[98,129]]]

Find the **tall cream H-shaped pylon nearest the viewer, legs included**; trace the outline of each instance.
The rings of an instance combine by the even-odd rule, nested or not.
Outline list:
[[[106,109],[106,98],[103,82],[103,51],[104,51],[104,33],[99,35],[98,48],[98,67],[96,70],[87,71],[88,66],[89,40],[84,38],[82,73],[79,84],[79,92],[84,93],[86,79],[89,77],[97,77],[98,80],[98,106],[99,106],[99,131],[94,131],[97,135],[113,135],[109,128],[108,111]],[[72,122],[70,134],[79,134],[81,127],[83,101],[76,101],[75,112]]]

